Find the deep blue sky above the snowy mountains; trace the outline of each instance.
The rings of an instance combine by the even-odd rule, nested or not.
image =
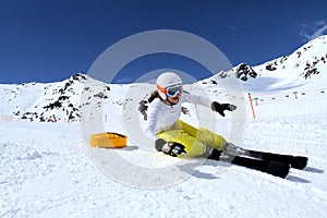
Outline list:
[[[289,55],[327,34],[327,1],[1,0],[0,83],[55,82],[87,73],[108,47],[152,29],[178,29],[214,44],[232,65]],[[117,81],[157,69],[197,78],[201,65],[174,56],[132,62]]]

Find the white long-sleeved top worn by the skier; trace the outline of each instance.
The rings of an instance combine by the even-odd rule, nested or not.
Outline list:
[[[153,140],[157,140],[157,133],[170,130],[181,117],[183,102],[211,107],[210,99],[189,93],[183,93],[179,102],[174,106],[166,105],[160,98],[156,98],[149,104],[147,109],[146,135]]]

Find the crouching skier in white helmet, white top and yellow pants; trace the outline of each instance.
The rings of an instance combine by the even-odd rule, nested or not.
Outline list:
[[[235,110],[235,106],[183,92],[183,82],[173,72],[160,74],[156,86],[157,90],[148,99],[146,134],[155,141],[158,152],[173,157],[187,154],[191,157],[205,156],[209,159],[219,159],[221,152],[237,154],[238,147],[227,143],[221,135],[204,128],[196,129],[180,120],[182,102],[209,107],[222,117],[226,110]]]

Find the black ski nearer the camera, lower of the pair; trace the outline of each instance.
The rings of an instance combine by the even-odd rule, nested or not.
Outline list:
[[[234,156],[229,158],[220,158],[221,161],[228,161],[233,165],[266,172],[268,174],[286,178],[290,171],[290,165],[284,162],[267,161],[249,157]],[[230,161],[231,160],[231,161]]]

